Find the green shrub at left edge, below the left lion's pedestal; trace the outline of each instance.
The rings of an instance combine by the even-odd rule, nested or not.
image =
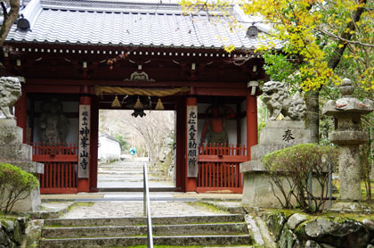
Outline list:
[[[12,164],[0,163],[0,210],[12,211],[14,203],[26,199],[38,184],[31,173]]]

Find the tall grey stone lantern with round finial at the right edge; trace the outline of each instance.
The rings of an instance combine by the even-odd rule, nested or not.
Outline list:
[[[361,199],[361,168],[359,145],[368,142],[368,134],[362,131],[361,115],[373,111],[369,99],[362,102],[354,98],[354,86],[350,79],[343,79],[339,88],[342,98],[329,100],[322,114],[335,117],[335,131],[329,133],[329,140],[340,146],[339,179],[340,198],[353,202]]]

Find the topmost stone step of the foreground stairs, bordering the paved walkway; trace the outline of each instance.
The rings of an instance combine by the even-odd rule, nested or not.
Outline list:
[[[152,217],[153,225],[207,224],[207,223],[238,223],[244,222],[241,214]],[[49,227],[93,227],[93,226],[135,226],[145,225],[143,217],[125,218],[93,218],[93,219],[45,219]]]

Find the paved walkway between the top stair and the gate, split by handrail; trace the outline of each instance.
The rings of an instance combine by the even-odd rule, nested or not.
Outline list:
[[[41,197],[42,206],[50,211],[61,211],[76,203],[61,216],[65,219],[140,217],[143,213],[142,194],[138,193],[42,194]],[[150,212],[152,216],[222,214],[227,212],[199,201],[225,209],[240,206],[240,199],[241,194],[150,193]]]

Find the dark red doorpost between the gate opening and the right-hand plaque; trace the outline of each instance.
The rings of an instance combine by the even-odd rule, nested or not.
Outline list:
[[[176,159],[175,159],[175,187],[177,191],[185,191],[186,185],[186,103],[181,97],[176,105]]]

